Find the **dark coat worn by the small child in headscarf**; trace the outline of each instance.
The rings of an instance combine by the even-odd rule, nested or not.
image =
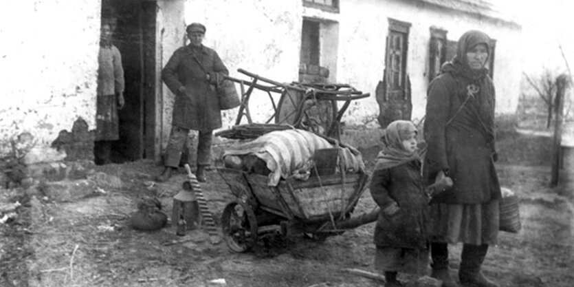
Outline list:
[[[381,210],[396,202],[394,215],[379,213],[374,242],[377,246],[426,248],[428,197],[423,191],[418,160],[373,172],[371,196]]]

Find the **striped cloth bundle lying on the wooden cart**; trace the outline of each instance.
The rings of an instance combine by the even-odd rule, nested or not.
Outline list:
[[[334,145],[333,145],[334,144]],[[309,131],[271,131],[248,142],[238,142],[223,154],[225,167],[269,177],[269,186],[281,178],[307,180],[312,173],[364,171],[361,153],[329,142]]]

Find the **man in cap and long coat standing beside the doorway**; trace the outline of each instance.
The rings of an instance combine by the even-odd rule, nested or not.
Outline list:
[[[186,32],[190,44],[175,50],[162,70],[162,80],[175,94],[175,103],[165,169],[155,178],[158,182],[168,180],[179,167],[190,129],[199,131],[195,176],[205,182],[206,167],[211,162],[212,131],[221,127],[215,85],[229,74],[228,69],[217,52],[201,43],[206,33],[204,25],[192,23]]]

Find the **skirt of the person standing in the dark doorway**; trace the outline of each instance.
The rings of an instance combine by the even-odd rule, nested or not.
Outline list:
[[[98,96],[96,102],[95,140],[119,140],[118,97],[115,95]]]

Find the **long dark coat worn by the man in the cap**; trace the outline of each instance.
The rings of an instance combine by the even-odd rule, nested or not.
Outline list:
[[[205,71],[194,59],[194,54]],[[206,73],[210,74],[210,81],[206,79]],[[228,74],[217,52],[208,47],[192,48],[188,45],[175,50],[162,70],[162,80],[176,95],[172,125],[198,131],[221,127],[215,84],[218,78]],[[186,87],[185,94],[178,92],[181,86]]]

